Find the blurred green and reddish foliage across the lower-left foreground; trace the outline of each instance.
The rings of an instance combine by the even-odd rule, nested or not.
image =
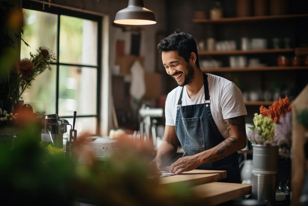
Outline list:
[[[189,185],[160,184],[148,162],[153,150],[147,142],[122,137],[120,150],[98,160],[87,148],[86,135],[72,152],[39,145],[40,118],[19,115],[12,128],[14,142],[0,142],[0,198],[2,205],[191,205],[197,199]],[[0,137],[3,134],[0,128]],[[151,177],[151,178],[149,178]]]

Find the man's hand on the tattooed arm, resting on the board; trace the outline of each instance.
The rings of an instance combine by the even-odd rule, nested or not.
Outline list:
[[[169,172],[181,174],[182,172],[194,170],[199,165],[201,165],[201,162],[197,155],[186,156],[178,159],[176,162],[171,164]]]

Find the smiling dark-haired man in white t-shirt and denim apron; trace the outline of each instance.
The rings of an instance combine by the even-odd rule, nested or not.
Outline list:
[[[233,82],[201,71],[193,36],[177,30],[157,48],[179,86],[168,94],[164,141],[151,164],[162,170],[180,143],[184,155],[169,172],[227,170],[223,182],[241,183],[237,151],[246,146],[247,115],[241,91]]]

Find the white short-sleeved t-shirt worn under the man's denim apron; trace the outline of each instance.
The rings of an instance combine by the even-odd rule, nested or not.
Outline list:
[[[243,95],[233,82],[213,74],[207,75],[211,113],[219,132],[224,138],[228,138],[229,134],[224,119],[247,115]],[[180,98],[181,90],[182,87],[178,86],[169,92],[167,96],[165,104],[166,125],[175,126],[176,104]],[[193,99],[188,97],[186,86],[184,86],[182,106],[201,104],[204,103],[204,100],[204,86]]]

